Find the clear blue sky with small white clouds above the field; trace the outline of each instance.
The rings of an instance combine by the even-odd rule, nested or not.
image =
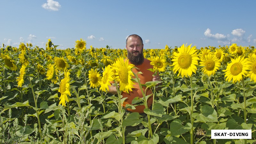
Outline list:
[[[58,49],[84,39],[86,47],[125,48],[138,34],[144,49],[165,45],[256,46],[255,0],[1,0],[0,44]]]

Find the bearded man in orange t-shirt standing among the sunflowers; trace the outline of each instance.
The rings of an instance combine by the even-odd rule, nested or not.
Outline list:
[[[138,77],[140,78],[140,83],[145,84],[146,82],[149,81],[161,81],[160,76],[152,76],[154,73],[149,71],[149,68],[153,68],[152,65],[150,65],[150,60],[144,58],[143,55],[143,41],[140,36],[138,35],[130,35],[126,39],[126,50],[127,50],[127,59],[129,60],[129,64],[135,65],[136,68],[133,68],[132,71],[137,74],[139,71],[142,72],[143,74],[138,74]],[[126,59],[125,59],[126,60]],[[138,68],[138,69],[137,69]],[[125,93],[122,92],[123,98],[127,99],[124,101],[123,106],[125,107],[126,104],[132,104],[132,100],[135,97],[140,97],[142,98],[142,92],[140,90],[140,86],[138,83],[135,83],[134,88],[132,88],[132,92]],[[145,92],[146,87],[142,87],[143,91]],[[109,93],[111,94],[117,94],[116,87],[111,85],[109,86]],[[147,90],[146,96],[152,94],[152,91],[150,89]],[[153,103],[153,97],[151,96],[148,98],[148,108],[152,105]],[[128,111],[130,112],[138,112],[138,113],[144,113],[144,105],[139,105],[135,107],[136,109],[130,109],[127,108]]]

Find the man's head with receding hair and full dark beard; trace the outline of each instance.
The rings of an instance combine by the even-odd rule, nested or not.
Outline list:
[[[143,41],[138,35],[130,35],[126,39],[127,58],[134,65],[140,65],[144,61]]]

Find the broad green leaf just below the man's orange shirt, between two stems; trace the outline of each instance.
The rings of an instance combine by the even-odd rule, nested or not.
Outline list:
[[[140,114],[138,112],[133,112],[128,115],[123,123],[122,126],[136,126],[142,122],[142,118],[139,118]]]

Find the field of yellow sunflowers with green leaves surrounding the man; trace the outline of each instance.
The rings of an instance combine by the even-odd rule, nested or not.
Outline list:
[[[140,84],[136,67],[124,62],[126,49],[75,44],[65,50],[50,39],[46,48],[3,44],[0,143],[255,143],[254,46],[144,49],[148,70],[162,79],[156,86],[159,81]],[[153,93],[123,107],[122,92],[134,83]],[[108,93],[111,84],[116,95]],[[145,105],[145,115],[125,110],[137,105]],[[252,139],[211,139],[213,129],[252,130]]]

